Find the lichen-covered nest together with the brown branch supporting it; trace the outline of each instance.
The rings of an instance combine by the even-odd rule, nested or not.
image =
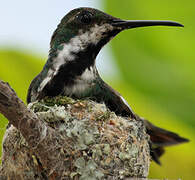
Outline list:
[[[148,175],[142,121],[104,104],[67,97],[26,105],[0,81],[0,112],[12,124],[3,140],[0,179],[128,179]]]

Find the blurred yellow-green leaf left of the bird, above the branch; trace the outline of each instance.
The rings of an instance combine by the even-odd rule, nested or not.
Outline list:
[[[31,80],[41,71],[42,58],[18,50],[0,51],[0,79],[9,82],[18,96],[26,102]]]

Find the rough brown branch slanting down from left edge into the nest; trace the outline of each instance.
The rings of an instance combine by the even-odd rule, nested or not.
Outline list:
[[[0,80],[0,112],[15,126],[25,138],[30,148],[38,155],[48,174],[56,167],[58,173],[63,159],[56,158],[60,154],[59,145],[65,142],[59,134],[40,121],[35,113],[17,97],[15,91]],[[56,149],[54,148],[56,147]],[[60,176],[60,174],[58,175]]]

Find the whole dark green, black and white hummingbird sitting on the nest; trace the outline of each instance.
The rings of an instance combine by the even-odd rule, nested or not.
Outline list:
[[[96,57],[121,31],[145,26],[179,26],[173,21],[122,20],[100,10],[81,7],[70,11],[54,31],[42,71],[32,80],[27,103],[46,96],[64,95],[103,102],[116,115],[143,120],[150,136],[150,154],[160,164],[164,147],[187,142],[178,134],[159,128],[134,113],[126,100],[100,77]]]

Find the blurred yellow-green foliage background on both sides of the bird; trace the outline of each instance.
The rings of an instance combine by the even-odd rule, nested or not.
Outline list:
[[[162,166],[151,163],[149,177],[194,179],[195,2],[107,0],[101,3],[102,10],[123,19],[174,20],[185,25],[185,28],[148,27],[121,33],[109,46],[112,54],[101,55],[106,54],[101,58],[103,61],[100,60],[99,69],[101,72],[103,69],[103,78],[126,98],[137,114],[191,140],[190,143],[167,148],[161,158]],[[78,6],[86,6],[86,3]],[[93,6],[97,8],[97,5]],[[55,11],[53,14],[55,16]],[[29,16],[33,17],[33,14]],[[54,27],[58,23],[56,21]],[[105,57],[111,59],[111,66],[104,62],[107,61]],[[45,53],[35,52],[34,48],[31,51],[1,45],[0,79],[8,81],[25,101],[28,86],[46,59]],[[0,119],[2,139],[7,121],[1,115]]]

